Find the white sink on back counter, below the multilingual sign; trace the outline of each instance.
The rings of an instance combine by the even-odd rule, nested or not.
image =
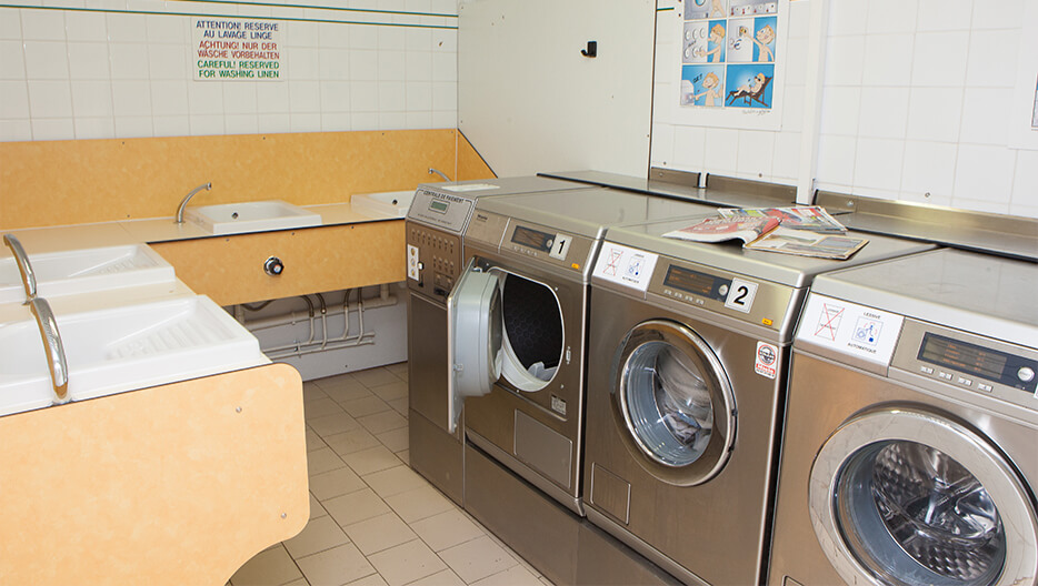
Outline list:
[[[184,218],[213,235],[321,225],[321,215],[280,200],[188,208]]]

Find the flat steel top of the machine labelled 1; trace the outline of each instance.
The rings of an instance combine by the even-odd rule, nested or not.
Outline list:
[[[675,215],[712,215],[716,209],[642,193],[587,188],[562,193],[525,193],[480,200],[477,212],[492,212],[591,239],[613,225],[661,221]]]

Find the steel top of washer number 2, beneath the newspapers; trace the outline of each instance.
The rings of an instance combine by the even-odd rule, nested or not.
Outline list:
[[[869,241],[868,244],[846,261],[832,261],[747,250],[742,247],[741,241],[711,244],[662,236],[667,232],[695,224],[699,218],[702,218],[702,215],[641,225],[610,228],[606,239],[617,244],[635,246],[675,259],[693,261],[792,287],[807,286],[811,284],[811,280],[816,275],[828,271],[859,266],[935,247],[932,244],[921,242],[850,231],[848,232],[849,235],[865,238]]]

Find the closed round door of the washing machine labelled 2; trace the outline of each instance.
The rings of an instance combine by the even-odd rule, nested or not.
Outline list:
[[[620,436],[649,474],[693,486],[720,473],[736,440],[736,403],[702,337],[676,322],[642,322],[623,339],[613,368]]]

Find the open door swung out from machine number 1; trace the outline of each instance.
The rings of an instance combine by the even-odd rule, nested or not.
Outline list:
[[[501,287],[498,275],[483,272],[469,261],[447,297],[450,375],[447,382],[447,424],[458,428],[465,397],[490,393],[501,376]]]

